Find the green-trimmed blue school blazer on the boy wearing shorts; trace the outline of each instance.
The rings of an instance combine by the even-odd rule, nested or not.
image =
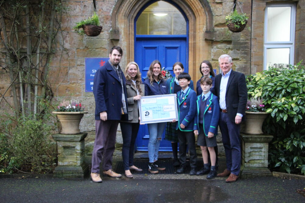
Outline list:
[[[197,104],[197,114],[196,114],[196,124],[199,125],[199,112],[203,112],[203,131],[204,135],[208,136],[208,132],[214,133],[217,135],[218,133],[218,121],[220,108],[218,103],[218,97],[213,93],[207,98],[206,106],[204,110],[200,109],[200,100],[201,95],[197,96],[196,104]],[[197,126],[196,126],[197,127]],[[199,132],[199,127],[196,129]]]

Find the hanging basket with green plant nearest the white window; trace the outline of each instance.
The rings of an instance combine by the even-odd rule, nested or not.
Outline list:
[[[226,16],[227,26],[231,32],[238,33],[245,29],[248,22],[246,13],[239,13],[234,10],[230,15]]]

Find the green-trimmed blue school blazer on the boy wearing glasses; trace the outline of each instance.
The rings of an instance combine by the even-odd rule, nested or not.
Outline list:
[[[178,106],[178,122],[176,130],[193,131],[194,130],[194,117],[196,115],[196,92],[188,88],[184,95],[184,99],[180,99],[181,91],[177,93],[177,106]],[[185,125],[185,128],[180,128],[180,124]]]

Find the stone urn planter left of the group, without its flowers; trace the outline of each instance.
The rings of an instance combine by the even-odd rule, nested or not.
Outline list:
[[[79,130],[79,124],[84,114],[88,114],[88,111],[53,111],[52,113],[57,114],[57,117],[61,123],[62,130],[60,131],[60,134],[76,135],[81,133],[81,131]]]

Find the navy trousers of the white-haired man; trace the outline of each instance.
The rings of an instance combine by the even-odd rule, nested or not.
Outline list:
[[[227,169],[239,175],[241,164],[241,150],[239,129],[240,124],[230,121],[227,113],[220,113],[219,128],[226,155]]]

